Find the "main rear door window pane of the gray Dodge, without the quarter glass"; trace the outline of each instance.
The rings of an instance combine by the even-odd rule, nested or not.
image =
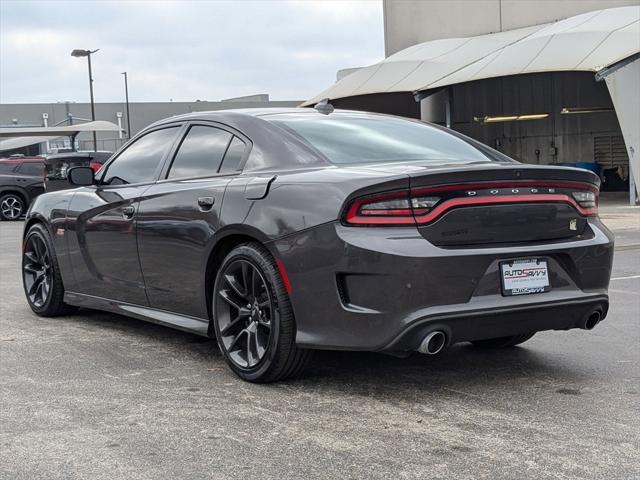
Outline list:
[[[167,178],[215,175],[232,136],[219,128],[192,126],[173,159]]]

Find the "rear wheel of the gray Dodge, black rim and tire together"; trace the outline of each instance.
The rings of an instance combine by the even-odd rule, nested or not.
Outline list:
[[[213,290],[213,326],[225,361],[249,382],[295,376],[311,356],[295,344],[287,290],[273,257],[258,243],[236,247],[222,262]]]

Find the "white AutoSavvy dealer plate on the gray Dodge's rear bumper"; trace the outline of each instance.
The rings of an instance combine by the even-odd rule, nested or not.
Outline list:
[[[502,294],[527,295],[551,290],[547,261],[540,258],[500,263]]]

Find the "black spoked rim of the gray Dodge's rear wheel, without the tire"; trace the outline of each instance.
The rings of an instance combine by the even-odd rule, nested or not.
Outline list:
[[[274,306],[262,273],[249,260],[225,268],[218,291],[220,341],[241,368],[253,368],[264,357],[271,338]]]

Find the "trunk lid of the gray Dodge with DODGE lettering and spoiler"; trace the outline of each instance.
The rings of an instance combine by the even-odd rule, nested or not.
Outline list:
[[[412,196],[440,199],[430,214],[416,217],[418,230],[434,245],[451,248],[581,238],[593,211],[582,209],[573,192],[597,192],[600,183],[587,170],[522,164],[406,173]]]

